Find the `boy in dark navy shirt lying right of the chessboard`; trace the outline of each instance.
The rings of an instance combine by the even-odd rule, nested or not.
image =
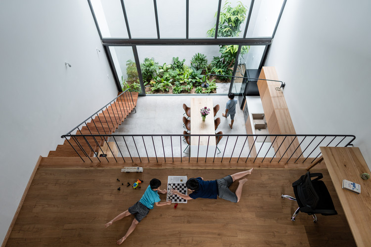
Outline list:
[[[172,190],[171,192],[186,200],[196,198],[217,199],[217,197],[219,196],[219,198],[231,201],[232,203],[238,203],[242,194],[242,186],[247,181],[247,179],[244,178],[238,181],[239,184],[235,193],[233,193],[229,189],[229,187],[235,180],[240,179],[247,174],[251,174],[253,169],[254,168],[251,168],[250,170],[237,172],[224,178],[210,181],[204,181],[202,177],[189,178],[188,181],[185,183],[185,186],[188,188],[189,191],[192,191],[191,194],[186,196],[177,190]]]

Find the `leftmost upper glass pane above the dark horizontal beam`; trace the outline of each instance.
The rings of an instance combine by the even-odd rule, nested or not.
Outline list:
[[[120,0],[91,0],[102,38],[128,39]]]

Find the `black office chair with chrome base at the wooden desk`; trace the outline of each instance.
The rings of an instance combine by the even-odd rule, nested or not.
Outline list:
[[[316,178],[312,180],[312,177]],[[296,198],[281,195],[282,199],[286,198],[298,203],[299,207],[292,215],[292,221],[295,221],[299,211],[312,215],[314,222],[317,222],[316,213],[321,213],[322,215],[337,214],[330,193],[328,193],[324,181],[320,180],[321,178],[323,178],[322,173],[311,174],[308,171],[292,184]]]

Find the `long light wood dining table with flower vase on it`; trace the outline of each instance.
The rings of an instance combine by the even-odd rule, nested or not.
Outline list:
[[[205,121],[202,121],[201,109],[210,109]],[[191,134],[215,134],[213,99],[197,97],[190,99],[190,133]],[[208,147],[207,147],[208,146]],[[199,148],[198,148],[199,147]],[[214,136],[192,136],[190,138],[191,156],[214,156],[216,148],[216,138]]]

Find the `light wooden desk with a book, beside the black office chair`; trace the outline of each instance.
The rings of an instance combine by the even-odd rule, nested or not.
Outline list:
[[[371,179],[363,180],[360,177],[363,172],[370,174],[361,151],[359,148],[347,147],[320,149],[357,246],[370,246]],[[342,189],[343,179],[360,184],[361,193]]]

